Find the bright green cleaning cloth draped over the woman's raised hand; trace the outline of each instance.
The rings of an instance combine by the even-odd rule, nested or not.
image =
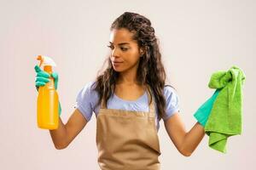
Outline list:
[[[208,83],[209,88],[220,89],[205,126],[209,136],[208,144],[214,150],[226,153],[227,139],[241,134],[244,81],[243,71],[232,66],[229,71],[213,73]]]

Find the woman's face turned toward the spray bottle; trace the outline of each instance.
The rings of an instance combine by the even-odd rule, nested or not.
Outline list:
[[[140,51],[137,42],[132,39],[133,33],[125,28],[113,29],[110,33],[110,59],[114,71],[137,70]]]

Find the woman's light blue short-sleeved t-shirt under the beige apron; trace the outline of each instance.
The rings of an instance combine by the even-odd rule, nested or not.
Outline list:
[[[90,118],[93,114],[97,116],[100,110],[100,105],[97,105],[99,100],[99,95],[93,88],[94,82],[88,82],[85,84],[84,88],[79,91],[77,96],[75,108],[79,109],[87,122],[90,121]],[[175,89],[166,86],[164,88],[164,95],[166,97],[166,114],[163,116],[164,120],[167,120],[174,113],[179,111],[178,105],[178,96],[175,92]],[[107,102],[108,109],[118,109],[125,111],[147,111],[148,112],[148,95],[145,92],[141,97],[136,100],[125,100],[120,99],[117,95],[113,94]],[[157,107],[154,103],[154,111],[155,111],[155,124],[157,131],[160,127],[160,116],[157,111]]]

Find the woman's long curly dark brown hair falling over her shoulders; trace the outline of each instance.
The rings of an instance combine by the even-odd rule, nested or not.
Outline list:
[[[163,93],[165,86],[167,86],[165,85],[166,71],[161,62],[159,41],[154,35],[154,28],[146,17],[131,12],[125,12],[114,20],[110,31],[121,28],[134,32],[132,38],[137,41],[138,48],[145,49],[137,69],[137,82],[142,85],[149,85],[154,95],[158,113],[162,117],[166,111],[166,99]],[[104,99],[105,105],[107,104],[119,77],[119,72],[113,70],[109,57],[104,63],[106,62],[108,62],[108,67],[96,77],[94,89],[99,94],[97,105],[101,104],[102,99]],[[152,99],[150,99],[151,101]]]

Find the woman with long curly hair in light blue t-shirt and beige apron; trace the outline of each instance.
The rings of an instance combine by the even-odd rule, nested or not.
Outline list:
[[[64,149],[96,114],[98,162],[107,169],[160,169],[159,122],[183,156],[190,156],[205,132],[199,122],[185,131],[178,98],[166,85],[166,72],[150,20],[125,12],[110,29],[108,68],[79,92],[77,108],[56,130],[50,130],[56,149]],[[36,66],[36,71],[42,71]],[[44,86],[49,75],[39,77]],[[57,73],[55,77],[57,86]]]

